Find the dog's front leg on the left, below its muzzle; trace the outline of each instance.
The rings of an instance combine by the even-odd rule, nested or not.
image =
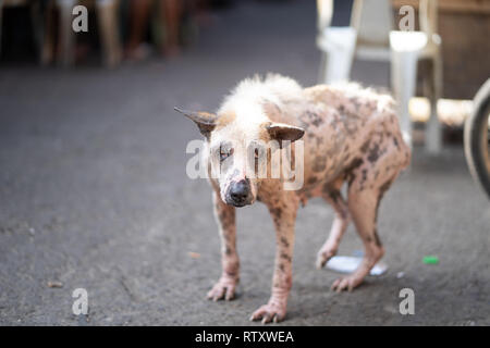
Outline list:
[[[208,299],[231,300],[235,296],[240,271],[238,254],[236,253],[235,208],[225,204],[217,191],[212,192],[212,200],[221,237],[222,273],[218,283],[208,293]]]

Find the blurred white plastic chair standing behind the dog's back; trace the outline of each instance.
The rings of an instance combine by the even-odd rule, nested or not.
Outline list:
[[[331,27],[333,0],[317,0],[317,46],[323,52],[320,83],[331,84],[350,77],[354,57],[362,60],[391,61],[391,84],[397,101],[401,127],[412,146],[412,121],[408,102],[415,95],[417,62],[432,61],[430,76],[431,117],[426,130],[426,149],[437,153],[441,149],[437,100],[442,91],[442,59],[437,28],[437,0],[420,0],[420,32],[393,30],[390,0],[354,0],[351,25]]]

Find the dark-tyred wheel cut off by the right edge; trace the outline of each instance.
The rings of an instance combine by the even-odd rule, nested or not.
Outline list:
[[[464,141],[469,171],[490,198],[490,78],[475,96]]]

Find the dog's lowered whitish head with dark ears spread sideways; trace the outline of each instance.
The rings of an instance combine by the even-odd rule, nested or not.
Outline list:
[[[234,207],[255,202],[258,187],[267,178],[271,152],[282,141],[295,141],[304,134],[299,127],[274,123],[264,116],[237,117],[230,111],[215,114],[175,110],[194,121],[206,137],[210,175],[219,185],[221,199]]]

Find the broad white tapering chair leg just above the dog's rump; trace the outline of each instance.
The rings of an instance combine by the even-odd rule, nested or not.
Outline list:
[[[408,103],[415,95],[417,51],[391,52],[391,84],[397,102],[400,126],[405,142],[412,147],[412,120]]]

